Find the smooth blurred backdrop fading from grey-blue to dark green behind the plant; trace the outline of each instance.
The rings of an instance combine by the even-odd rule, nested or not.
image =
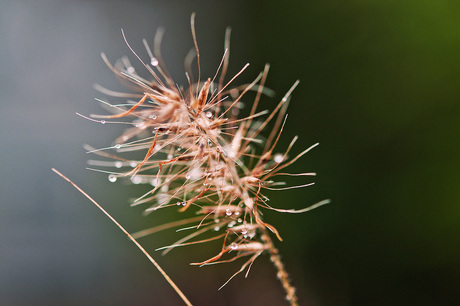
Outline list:
[[[162,50],[178,83],[197,13],[203,71],[212,75],[232,26],[230,74],[271,63],[272,107],[296,79],[279,150],[320,142],[293,172],[316,185],[268,194],[272,205],[332,204],[303,215],[267,212],[301,305],[460,305],[460,2],[0,1],[0,304],[182,305],[132,243],[55,167],[130,232],[164,223],[129,199],[145,191],[85,170],[84,143],[108,146],[120,127],[94,83],[120,89],[99,54]],[[130,55],[131,56],[131,55]],[[133,57],[131,56],[131,59]],[[134,61],[134,59],[133,59]],[[305,181],[303,181],[305,183]],[[150,251],[174,241],[162,233]],[[196,305],[283,305],[267,256],[217,291],[239,263],[190,267],[217,248],[155,258]],[[206,257],[207,256],[207,257]]]

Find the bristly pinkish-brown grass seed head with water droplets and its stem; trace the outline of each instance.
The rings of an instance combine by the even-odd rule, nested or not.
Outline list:
[[[189,81],[187,88],[176,85],[163,63],[160,52],[163,35],[161,30],[155,36],[153,51],[147,41],[143,41],[150,56],[148,63],[142,61],[132,50],[123,33],[126,44],[150,73],[149,78],[152,80],[138,75],[126,57],[112,65],[102,54],[107,66],[133,93],[118,93],[98,86],[103,93],[125,101],[128,99],[128,102],[109,104],[100,100],[113,114],[85,118],[103,124],[121,123],[129,128],[111,147],[88,147],[89,152],[104,158],[91,160],[89,163],[97,168],[94,170],[108,173],[111,182],[130,178],[134,184],[151,184],[151,189],[132,204],[147,205],[146,213],[172,206],[179,207],[179,212],[195,211],[195,217],[182,217],[184,214],[179,213],[178,220],[174,222],[132,236],[126,232],[141,250],[142,247],[135,239],[160,230],[187,225],[187,229],[193,232],[160,248],[163,254],[180,246],[220,240],[222,247],[214,251],[214,256],[191,264],[205,266],[246,258],[241,268],[228,281],[245,270],[247,276],[253,262],[261,254],[268,253],[287,301],[291,305],[297,305],[295,288],[272,240],[272,234],[280,241],[281,235],[273,225],[263,220],[260,209],[302,213],[329,202],[321,201],[300,210],[278,209],[270,206],[268,198],[263,195],[264,190],[287,190],[313,184],[286,187],[283,182],[274,180],[282,176],[315,175],[292,174],[283,170],[318,144],[289,158],[289,152],[297,141],[295,137],[284,152],[275,153],[286,122],[291,94],[299,82],[294,83],[273,111],[258,111],[261,96],[269,93],[264,86],[269,66],[266,65],[252,83],[230,88],[248,64],[228,82],[224,82],[229,62],[230,30],[227,29],[225,52],[217,72],[212,78],[202,80],[194,15],[191,18],[191,27],[198,76],[194,81],[191,73],[194,57],[189,56],[186,58],[186,67],[189,70],[186,73]],[[250,113],[238,119],[243,99],[249,91],[255,92]],[[261,132],[267,127],[271,127],[271,132],[264,138]],[[109,150],[114,153],[109,153]],[[125,156],[136,152],[142,154],[137,160]],[[104,170],[104,167],[112,167],[114,170]],[[112,221],[116,222],[113,219]],[[143,252],[146,253],[144,250]],[[184,301],[190,303],[186,299]]]

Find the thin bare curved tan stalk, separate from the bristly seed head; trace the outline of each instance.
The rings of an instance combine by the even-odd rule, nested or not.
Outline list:
[[[110,220],[112,220],[113,223],[115,223],[118,228],[125,233],[128,238],[144,253],[144,255],[150,260],[150,262],[160,271],[161,275],[166,279],[166,281],[173,287],[174,291],[180,296],[180,298],[184,301],[186,305],[192,305],[190,301],[187,299],[187,297],[184,295],[184,293],[177,287],[177,285],[172,281],[172,279],[166,274],[166,272],[160,267],[160,265],[150,256],[149,253],[139,244],[139,242],[136,241],[136,239],[131,236],[128,231],[125,230],[123,226],[120,225],[104,208],[102,208],[101,205],[99,205],[93,198],[91,198],[86,192],[84,192],[80,187],[78,187],[74,182],[72,182],[69,178],[67,178],[64,174],[59,172],[58,170],[52,168],[54,172],[56,172],[60,177],[62,177],[64,180],[69,182],[73,187],[75,187],[79,192],[81,192],[85,197],[87,197],[91,202],[93,202],[94,205],[96,205],[97,208],[99,208]]]

